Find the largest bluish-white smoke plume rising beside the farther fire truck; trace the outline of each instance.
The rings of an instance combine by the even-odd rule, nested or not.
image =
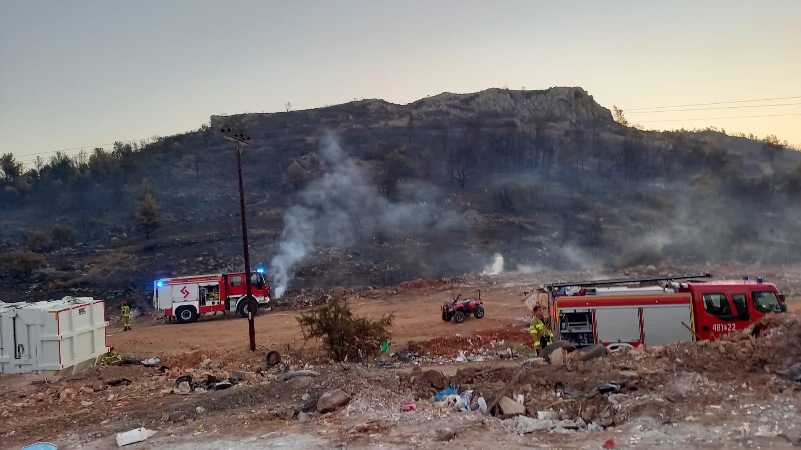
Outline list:
[[[297,204],[284,215],[270,270],[276,299],[315,247],[346,248],[378,233],[413,237],[465,225],[461,215],[437,204],[433,187],[400,186],[397,202],[380,195],[368,173],[348,159],[332,134],[320,140],[320,161],[326,174],[300,192]]]

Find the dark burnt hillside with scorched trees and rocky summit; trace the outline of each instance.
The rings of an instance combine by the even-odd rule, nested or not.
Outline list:
[[[146,291],[160,276],[239,268],[235,155],[222,127],[252,136],[253,264],[286,263],[290,289],[481,271],[496,252],[507,269],[801,255],[798,152],[622,127],[580,88],[493,89],[214,116],[193,133],[27,171],[6,156],[0,283],[33,296]],[[148,194],[158,225],[139,217]],[[292,239],[303,252],[281,247]]]

